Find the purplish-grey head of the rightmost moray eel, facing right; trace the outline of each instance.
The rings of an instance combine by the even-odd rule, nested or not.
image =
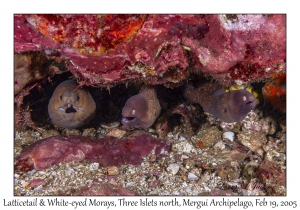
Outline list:
[[[255,106],[256,98],[246,90],[230,91],[229,106],[235,121],[241,121]]]

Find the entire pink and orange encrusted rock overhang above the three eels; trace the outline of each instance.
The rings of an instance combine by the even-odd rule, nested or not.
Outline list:
[[[16,15],[15,52],[45,49],[82,85],[243,84],[285,71],[286,15]]]

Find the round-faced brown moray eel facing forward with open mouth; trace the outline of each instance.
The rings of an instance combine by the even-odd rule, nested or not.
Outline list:
[[[88,123],[96,113],[96,103],[84,88],[78,88],[76,80],[60,83],[48,105],[53,123],[64,128],[78,128]]]

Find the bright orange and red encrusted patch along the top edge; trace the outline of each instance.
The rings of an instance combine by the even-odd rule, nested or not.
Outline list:
[[[127,42],[146,15],[26,15],[26,20],[61,46],[81,54],[100,55]]]

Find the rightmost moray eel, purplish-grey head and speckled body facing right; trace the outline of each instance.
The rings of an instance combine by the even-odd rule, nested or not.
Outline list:
[[[210,82],[198,86],[186,84],[184,97],[227,123],[241,121],[256,106],[255,96],[248,91],[225,92],[221,85]]]

